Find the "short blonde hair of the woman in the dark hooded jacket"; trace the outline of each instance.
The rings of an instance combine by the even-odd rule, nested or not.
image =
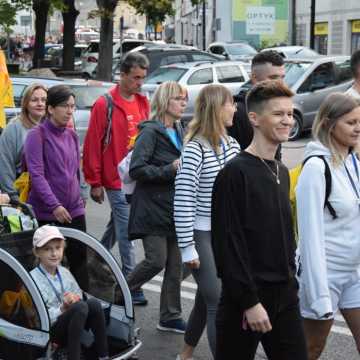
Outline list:
[[[187,97],[187,90],[176,81],[163,82],[152,97],[150,120],[163,122],[170,99],[178,96]]]

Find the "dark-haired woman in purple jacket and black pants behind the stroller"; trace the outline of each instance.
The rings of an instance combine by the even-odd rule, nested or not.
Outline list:
[[[39,225],[54,224],[86,231],[80,196],[80,148],[74,130],[67,127],[75,111],[75,95],[64,85],[53,86],[47,96],[47,117],[31,129],[24,145],[31,190],[28,202]],[[86,251],[69,241],[70,270],[82,289],[88,289]]]

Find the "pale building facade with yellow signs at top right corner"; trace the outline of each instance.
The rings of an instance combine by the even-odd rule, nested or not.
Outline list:
[[[310,45],[311,0],[296,2],[296,43]],[[350,55],[360,49],[360,1],[317,0],[315,50],[321,54]]]

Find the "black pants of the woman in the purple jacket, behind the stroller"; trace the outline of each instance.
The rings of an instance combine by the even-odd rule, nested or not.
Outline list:
[[[55,225],[61,227],[68,227],[86,232],[85,216],[81,215],[72,219],[71,223],[59,223],[57,221],[38,220],[39,226]],[[87,253],[86,246],[78,241],[69,241],[66,244],[65,255],[69,262],[71,273],[74,275],[76,281],[82,290],[89,290],[89,276],[87,272]]]

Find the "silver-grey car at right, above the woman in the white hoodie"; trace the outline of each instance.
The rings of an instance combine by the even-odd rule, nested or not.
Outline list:
[[[311,129],[324,98],[335,91],[344,92],[352,84],[349,56],[324,56],[287,60],[285,82],[295,93],[295,126],[290,139]]]

